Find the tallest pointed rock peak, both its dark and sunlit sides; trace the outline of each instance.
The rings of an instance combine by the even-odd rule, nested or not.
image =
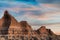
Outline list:
[[[0,34],[17,34],[20,28],[20,24],[16,19],[11,16],[8,11],[4,12],[4,16],[0,19]]]

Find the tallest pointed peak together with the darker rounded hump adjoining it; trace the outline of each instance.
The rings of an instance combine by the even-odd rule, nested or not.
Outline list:
[[[26,21],[21,21],[20,23],[11,16],[8,11],[4,12],[4,16],[0,19],[0,28],[6,29],[9,35],[11,34],[30,34],[32,31],[31,26]],[[22,31],[22,32],[21,32]]]

